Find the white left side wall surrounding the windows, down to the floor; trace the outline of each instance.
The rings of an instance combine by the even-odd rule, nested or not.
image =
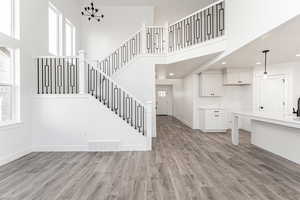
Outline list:
[[[63,3],[64,2],[64,3]],[[57,8],[77,24],[75,11],[79,4],[72,0],[55,0]],[[58,5],[59,4],[59,5]],[[73,12],[74,11],[74,12]],[[20,115],[22,123],[0,128],[0,165],[31,151],[32,95],[35,93],[34,57],[48,55],[48,1],[20,0],[20,41],[0,37],[0,44],[20,48]],[[79,41],[79,34],[77,34]]]

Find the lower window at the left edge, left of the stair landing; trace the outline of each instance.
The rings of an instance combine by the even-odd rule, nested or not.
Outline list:
[[[16,120],[16,57],[17,51],[0,47],[0,122]]]

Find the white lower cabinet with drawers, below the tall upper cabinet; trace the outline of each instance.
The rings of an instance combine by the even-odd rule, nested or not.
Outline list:
[[[200,130],[226,132],[226,116],[223,109],[200,109]]]

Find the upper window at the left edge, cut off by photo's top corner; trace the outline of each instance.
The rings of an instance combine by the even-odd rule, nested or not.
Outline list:
[[[1,0],[0,33],[19,38],[19,0]]]

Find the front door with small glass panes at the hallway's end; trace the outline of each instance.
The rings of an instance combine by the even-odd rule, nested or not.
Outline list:
[[[172,115],[172,86],[156,86],[156,114]]]

